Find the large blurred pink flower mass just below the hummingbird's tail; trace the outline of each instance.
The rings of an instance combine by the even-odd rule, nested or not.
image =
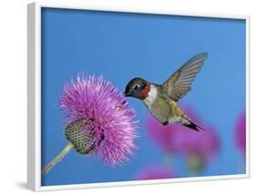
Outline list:
[[[210,160],[219,150],[216,131],[213,126],[201,121],[192,109],[186,106],[181,106],[181,109],[205,130],[191,131],[181,124],[162,126],[159,121],[150,117],[147,122],[148,135],[165,151],[197,155],[202,160]]]

